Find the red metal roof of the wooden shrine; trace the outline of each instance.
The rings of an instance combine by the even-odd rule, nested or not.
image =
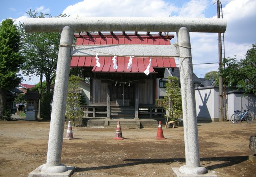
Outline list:
[[[173,35],[166,37],[160,35],[75,35],[76,45],[91,44],[155,44],[170,45]],[[100,67],[96,67],[95,57],[72,57],[71,67],[93,67],[93,72],[144,72],[149,64],[149,58],[134,57],[131,69],[127,69],[129,57],[116,57],[117,69],[113,69],[113,56],[99,57]],[[174,68],[176,67],[174,58],[152,57],[150,72],[153,68]]]

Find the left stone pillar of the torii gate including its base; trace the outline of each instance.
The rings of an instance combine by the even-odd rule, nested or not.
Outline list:
[[[61,151],[63,142],[63,131],[65,123],[65,111],[67,103],[67,90],[70,70],[70,50],[73,44],[74,30],[65,26],[61,32],[58,64],[52,103],[52,115],[49,131],[48,151],[46,164],[36,168],[29,174],[29,177],[58,176],[69,177],[74,167],[67,167],[61,164]],[[61,107],[59,104],[61,103]],[[60,175],[61,174],[61,175]]]

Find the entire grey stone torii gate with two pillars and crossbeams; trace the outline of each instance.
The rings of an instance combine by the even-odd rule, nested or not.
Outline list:
[[[195,92],[192,81],[192,55],[189,32],[224,33],[226,20],[213,18],[152,18],[152,17],[88,17],[88,18],[29,18],[25,20],[27,32],[60,32],[58,64],[52,103],[46,164],[39,166],[30,176],[69,176],[74,167],[61,164],[64,118],[67,102],[70,60],[72,56],[116,55],[179,57],[180,84],[184,120],[186,165],[179,168],[185,174],[204,174],[200,166]],[[177,45],[109,45],[72,46],[74,31],[174,31]],[[118,49],[116,48],[118,47]],[[156,47],[158,49],[156,50]],[[162,48],[163,47],[163,48]],[[167,47],[167,48],[166,48]],[[89,49],[89,50],[88,50]]]

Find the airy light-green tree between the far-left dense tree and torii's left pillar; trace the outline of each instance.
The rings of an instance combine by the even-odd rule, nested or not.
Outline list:
[[[50,14],[38,14],[31,9],[27,12],[30,18],[51,17]],[[58,17],[66,17],[59,15]],[[26,57],[23,72],[27,76],[30,74],[40,75],[42,72],[46,78],[47,92],[50,92],[50,85],[55,79],[58,60],[60,33],[26,33],[24,24],[19,23],[19,30],[22,41],[22,55]]]

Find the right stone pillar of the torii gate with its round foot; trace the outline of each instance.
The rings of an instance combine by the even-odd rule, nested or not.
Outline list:
[[[182,27],[177,31],[177,42],[180,52],[180,85],[186,156],[186,165],[181,166],[179,171],[189,175],[204,174],[207,170],[200,166],[192,55],[187,28]]]

